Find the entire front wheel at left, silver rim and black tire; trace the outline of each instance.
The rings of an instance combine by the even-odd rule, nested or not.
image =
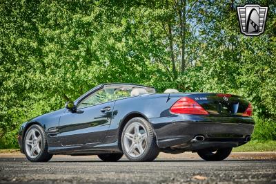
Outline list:
[[[46,134],[39,125],[32,125],[24,136],[23,149],[31,162],[48,162],[52,154],[48,154]]]

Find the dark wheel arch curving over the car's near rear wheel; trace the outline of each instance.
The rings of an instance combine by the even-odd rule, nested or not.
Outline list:
[[[120,123],[120,126],[119,126],[119,136],[118,136],[118,145],[119,145],[119,149],[121,149],[121,134],[123,133],[123,130],[124,130],[124,127],[126,126],[126,123],[131,120],[132,118],[144,118],[145,120],[147,120],[148,122],[150,122],[150,120],[148,120],[148,118],[146,117],[146,115],[144,115],[143,113],[140,113],[140,112],[131,112],[131,113],[128,113],[122,120],[121,120],[121,123]],[[151,125],[151,122],[150,122],[150,126],[152,127]],[[153,129],[153,127],[152,127]],[[153,129],[153,132],[155,134],[155,129]],[[156,137],[156,134],[155,134],[155,137]]]

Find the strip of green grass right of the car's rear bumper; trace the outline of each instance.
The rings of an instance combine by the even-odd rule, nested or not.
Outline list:
[[[240,147],[234,147],[234,152],[276,151],[276,140],[250,140]]]

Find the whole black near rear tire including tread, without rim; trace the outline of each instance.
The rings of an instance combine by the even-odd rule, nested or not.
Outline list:
[[[146,133],[148,135],[148,139],[146,142],[146,147],[144,149],[144,153],[141,154],[141,156],[138,157],[132,157],[128,154],[128,152],[126,151],[125,145],[124,145],[124,135],[126,133],[126,129],[128,128],[128,126],[130,126],[132,123],[135,122],[139,122],[141,123],[141,125],[144,125],[144,127],[146,128]],[[132,118],[131,120],[129,120],[126,123],[126,126],[124,127],[124,130],[121,134],[121,148],[123,149],[123,152],[126,156],[126,158],[128,158],[128,160],[130,161],[139,161],[139,162],[145,162],[145,161],[152,161],[155,160],[155,158],[157,158],[157,156],[159,155],[159,147],[157,146],[157,141],[155,138],[155,133],[150,125],[150,122],[148,122],[147,120],[145,120],[144,118]]]

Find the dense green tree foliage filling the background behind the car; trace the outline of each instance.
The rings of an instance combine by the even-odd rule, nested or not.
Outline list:
[[[3,0],[0,3],[0,147],[22,122],[104,82],[243,95],[255,138],[276,137],[276,5],[266,30],[239,32],[248,1]]]

